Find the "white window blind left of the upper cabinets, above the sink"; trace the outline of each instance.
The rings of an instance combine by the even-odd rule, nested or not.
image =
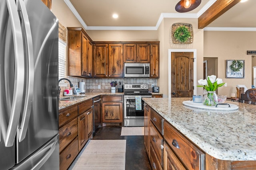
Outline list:
[[[66,43],[59,39],[59,79],[66,74]]]

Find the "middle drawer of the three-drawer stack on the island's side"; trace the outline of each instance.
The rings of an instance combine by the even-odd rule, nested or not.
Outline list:
[[[156,130],[154,125],[150,123],[150,143],[156,152],[156,156],[162,165],[162,149],[161,145],[163,145],[163,137]]]

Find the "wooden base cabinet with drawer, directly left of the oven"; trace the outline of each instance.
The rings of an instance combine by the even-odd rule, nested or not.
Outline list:
[[[105,95],[102,96],[102,122],[122,123],[123,122],[123,96]]]

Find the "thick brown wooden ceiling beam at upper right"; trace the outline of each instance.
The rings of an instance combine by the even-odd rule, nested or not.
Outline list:
[[[198,29],[203,29],[209,25],[238,2],[240,2],[240,0],[216,0],[216,2],[198,18]]]

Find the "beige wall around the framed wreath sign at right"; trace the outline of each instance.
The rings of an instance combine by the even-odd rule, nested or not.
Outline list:
[[[252,57],[247,50],[255,49],[254,31],[204,31],[204,57],[218,57],[218,77],[227,83],[220,87],[218,94],[230,96],[236,93],[236,85],[252,85]],[[244,78],[226,78],[226,60],[244,60]]]

